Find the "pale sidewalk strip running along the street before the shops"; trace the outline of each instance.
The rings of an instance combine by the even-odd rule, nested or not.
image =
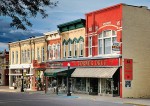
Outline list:
[[[20,92],[19,89],[11,90],[8,86],[0,86],[0,92]],[[64,97],[64,98],[76,98],[76,99],[88,99],[93,101],[105,101],[112,103],[121,103],[121,104],[134,104],[135,106],[150,106],[150,99],[129,99],[129,98],[120,98],[120,97],[109,97],[109,96],[92,96],[88,94],[72,94],[66,96],[66,94],[45,94],[45,91],[25,91],[24,93],[29,94],[43,94],[47,96],[55,97]]]

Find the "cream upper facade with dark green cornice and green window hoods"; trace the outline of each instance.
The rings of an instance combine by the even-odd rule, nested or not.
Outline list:
[[[85,20],[78,19],[58,25],[61,35],[61,58],[85,56]]]

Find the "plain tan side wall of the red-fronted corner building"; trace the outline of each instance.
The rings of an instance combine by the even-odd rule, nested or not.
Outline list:
[[[123,97],[150,97],[150,10],[144,6],[123,5],[122,59],[133,59],[131,87],[125,87]],[[123,61],[124,63],[124,61]],[[122,64],[124,70],[124,64]],[[124,76],[124,71],[123,76]]]

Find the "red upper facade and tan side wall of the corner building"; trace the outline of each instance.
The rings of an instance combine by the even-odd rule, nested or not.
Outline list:
[[[149,81],[150,69],[150,61],[146,59],[150,53],[149,16],[147,7],[126,4],[86,14],[86,56],[119,55],[116,83],[120,97],[150,97],[150,85],[144,83]],[[113,86],[115,90],[115,81]]]

